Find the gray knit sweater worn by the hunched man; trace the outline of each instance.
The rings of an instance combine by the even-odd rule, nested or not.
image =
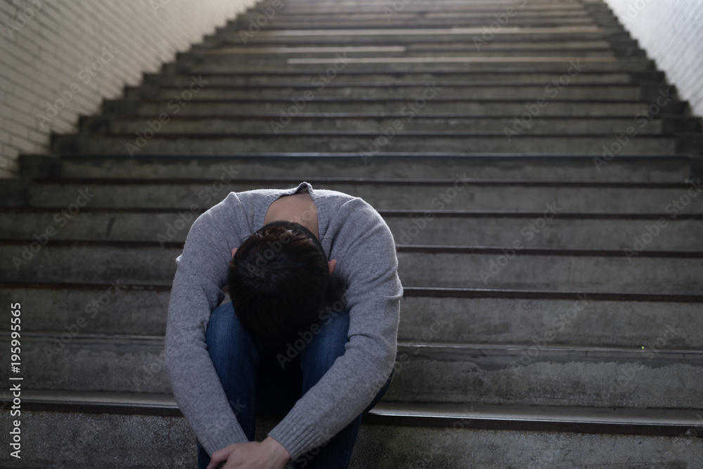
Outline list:
[[[247,442],[207,352],[210,313],[224,299],[231,250],[264,226],[269,205],[307,188],[318,211],[320,241],[347,291],[349,342],[344,354],[269,435],[293,459],[325,444],[370,404],[385,384],[396,356],[400,300],[398,259],[391,231],[361,198],[290,189],[230,193],[195,220],[176,276],[166,328],[166,364],[183,416],[209,455]],[[233,403],[242,404],[242,403]]]

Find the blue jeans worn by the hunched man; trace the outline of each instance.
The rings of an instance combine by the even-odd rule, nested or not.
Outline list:
[[[285,416],[295,402],[323,377],[337,357],[344,354],[349,315],[337,314],[332,321],[320,326],[321,331],[314,335],[295,359],[286,361],[282,366],[276,353],[265,349],[242,328],[231,303],[221,304],[212,311],[205,333],[207,349],[227,399],[249,441],[254,441],[255,412]],[[394,371],[363,413],[370,411],[380,401],[393,374]],[[362,414],[327,444],[299,456],[293,467],[347,468],[359,434]],[[197,439],[196,443],[198,468],[205,469],[210,457]]]

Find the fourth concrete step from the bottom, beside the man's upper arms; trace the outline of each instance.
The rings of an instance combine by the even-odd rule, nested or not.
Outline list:
[[[521,241],[517,239],[517,241]],[[521,241],[522,243],[522,241]],[[401,246],[404,286],[695,295],[701,252]],[[520,246],[523,246],[520,248]],[[163,246],[163,247],[162,247]],[[182,243],[4,240],[0,281],[169,285]],[[90,265],[90,269],[86,269]],[[475,266],[467,271],[466,265]]]

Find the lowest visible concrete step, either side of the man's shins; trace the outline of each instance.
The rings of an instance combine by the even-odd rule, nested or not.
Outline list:
[[[22,439],[27,445],[22,467],[197,465],[195,435],[169,394],[25,390],[22,397],[27,435]],[[9,413],[1,418],[12,428]],[[615,467],[646,467],[673,459],[693,468],[703,458],[703,445],[689,434],[698,433],[702,419],[688,409],[382,402],[363,417],[349,467],[413,467],[417,461],[427,469],[548,467],[557,461],[569,467],[603,461]],[[277,421],[259,416],[257,437],[264,437]],[[44,444],[48,435],[55,444]],[[130,451],[125,453],[124,447]],[[9,458],[6,454],[0,461]]]

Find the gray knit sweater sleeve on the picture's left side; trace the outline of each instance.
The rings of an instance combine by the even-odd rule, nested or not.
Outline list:
[[[210,313],[224,298],[233,233],[217,221],[229,212],[213,207],[188,232],[169,303],[166,366],[176,402],[207,454],[247,442],[210,359],[205,331]],[[219,216],[217,215],[219,213]],[[232,214],[227,214],[232,216]]]

